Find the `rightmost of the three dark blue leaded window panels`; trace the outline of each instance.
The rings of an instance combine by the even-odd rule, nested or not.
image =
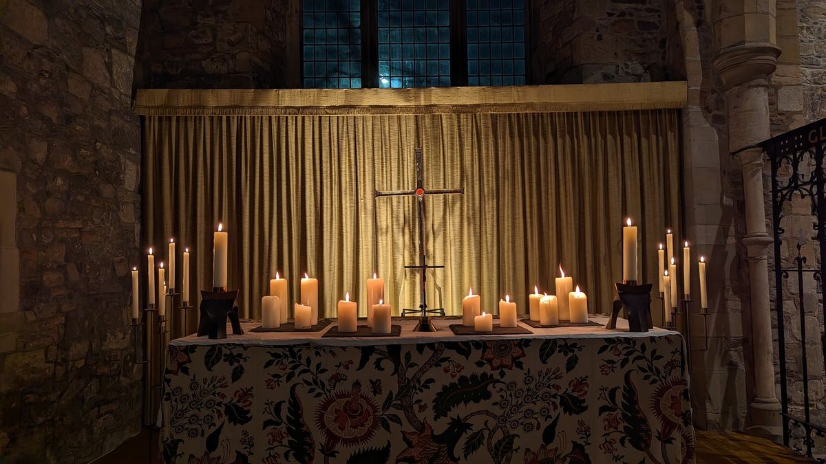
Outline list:
[[[467,22],[468,84],[524,85],[524,0],[469,0]]]

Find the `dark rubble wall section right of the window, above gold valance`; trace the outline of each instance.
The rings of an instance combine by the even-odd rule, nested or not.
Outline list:
[[[535,83],[679,80],[679,40],[667,0],[533,0]],[[677,68],[674,68],[676,64]]]

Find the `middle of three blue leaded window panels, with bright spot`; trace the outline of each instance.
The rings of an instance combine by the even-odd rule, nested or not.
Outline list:
[[[450,86],[449,0],[378,0],[378,86]]]

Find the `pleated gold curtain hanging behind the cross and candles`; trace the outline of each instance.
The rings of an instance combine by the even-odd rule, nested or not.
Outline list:
[[[621,228],[640,225],[641,276],[656,285],[656,248],[679,225],[679,110],[372,116],[144,116],[144,239],[192,251],[192,298],[211,286],[211,232],[230,236],[230,288],[259,318],[281,272],[292,303],[299,278],[320,281],[321,314],[365,279],[386,279],[395,311],[415,307],[415,186],[464,196],[425,198],[431,307],[460,314],[472,287],[496,313],[506,293],[527,309],[534,285],[553,293],[558,264],[610,310],[621,278]],[[179,286],[179,284],[178,284]],[[365,308],[360,307],[363,314]],[[654,311],[659,320],[659,311]],[[192,321],[191,321],[192,323]]]

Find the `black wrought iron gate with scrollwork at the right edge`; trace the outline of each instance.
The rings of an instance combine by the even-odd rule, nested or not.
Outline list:
[[[771,162],[773,304],[777,318],[783,444],[826,462],[822,457],[826,452],[824,410],[817,407],[826,397],[823,361],[826,359],[826,313],[822,301],[826,263],[826,119],[772,137],[761,146]],[[810,229],[807,220],[811,223]],[[806,225],[800,226],[796,237],[790,230],[795,221],[797,225]],[[784,247],[786,258],[782,253]],[[807,324],[812,318],[818,323]],[[799,335],[795,334],[797,331]],[[813,331],[818,333],[811,333]],[[823,358],[810,365],[813,353],[809,348],[818,343]],[[814,355],[817,354],[815,351]]]

